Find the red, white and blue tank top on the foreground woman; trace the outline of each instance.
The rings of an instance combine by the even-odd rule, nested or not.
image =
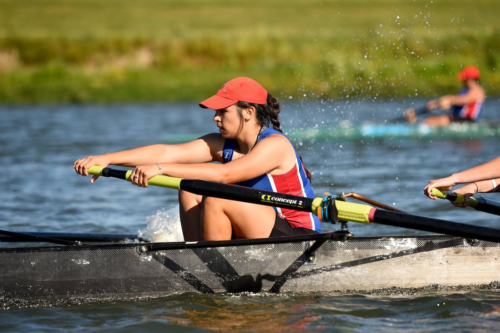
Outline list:
[[[260,140],[267,138],[269,135],[279,134],[288,139],[283,133],[276,131],[272,128],[266,128],[257,139],[257,142]],[[290,139],[288,139],[290,142]],[[248,179],[244,181],[237,182],[237,185],[264,189],[268,191],[274,191],[278,193],[287,193],[298,196],[310,197],[314,198],[314,193],[312,191],[312,187],[310,185],[309,179],[305,175],[305,171],[303,169],[302,163],[293,147],[292,143],[290,145],[295,152],[295,165],[286,173],[283,174],[262,174],[256,178]],[[234,148],[236,146],[236,140],[234,139],[225,139],[224,147],[222,150],[222,159],[224,163],[232,161],[232,156],[234,154]],[[284,216],[288,223],[290,223],[293,227],[301,227],[312,229],[317,232],[321,232],[321,225],[319,219],[316,215],[304,211],[297,211],[288,208],[277,208],[274,209],[278,212],[278,214]]]

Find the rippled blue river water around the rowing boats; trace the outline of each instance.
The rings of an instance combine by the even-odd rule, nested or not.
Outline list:
[[[281,102],[284,130],[381,122],[420,100]],[[500,119],[487,100],[483,120]],[[172,135],[216,132],[213,112],[195,102],[125,105],[0,106],[0,229],[132,233],[180,240],[177,193],[138,188],[114,178],[77,175],[87,155],[162,143]],[[497,138],[292,138],[313,173],[313,189],[356,192],[412,214],[496,226],[497,216],[429,200],[430,179],[500,155]],[[485,196],[500,200],[498,194]],[[355,200],[349,200],[355,201]],[[324,231],[336,225],[323,224]],[[356,236],[421,234],[383,225],[349,224]],[[0,243],[0,247],[14,246]],[[499,278],[500,280],[500,278]],[[455,332],[493,331],[500,319],[497,290],[406,295],[182,294],[149,301],[3,307],[1,332]]]

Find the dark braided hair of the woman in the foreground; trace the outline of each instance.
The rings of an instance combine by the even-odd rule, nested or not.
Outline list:
[[[243,129],[243,115],[241,112],[243,109],[249,108],[250,106],[254,107],[256,110],[255,115],[256,115],[256,121],[257,121],[258,125],[267,126],[267,127],[272,126],[272,128],[274,130],[283,133],[283,131],[281,131],[281,128],[279,127],[279,112],[281,111],[281,108],[279,106],[279,102],[277,99],[272,97],[272,95],[269,92],[267,92],[267,99],[266,99],[265,104],[236,102],[235,105],[237,107],[238,114],[239,114],[240,119],[241,119],[238,134]],[[302,167],[304,168],[305,175],[307,176],[309,181],[311,181],[312,180],[311,173],[304,166],[300,155],[298,157],[300,159],[300,163],[302,163]]]

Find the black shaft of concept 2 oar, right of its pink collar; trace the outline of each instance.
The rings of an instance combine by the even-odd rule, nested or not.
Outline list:
[[[498,229],[403,214],[383,209],[376,209],[373,212],[372,222],[463,238],[477,238],[485,241],[500,242],[500,230]]]

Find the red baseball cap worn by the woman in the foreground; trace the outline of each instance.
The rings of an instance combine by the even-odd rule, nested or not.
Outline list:
[[[267,90],[256,81],[247,77],[237,77],[220,87],[212,97],[199,103],[204,109],[224,109],[236,102],[265,104]]]

